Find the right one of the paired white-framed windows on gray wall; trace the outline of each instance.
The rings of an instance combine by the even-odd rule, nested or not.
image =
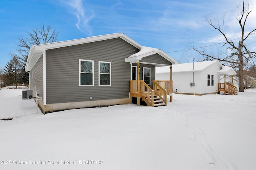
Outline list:
[[[99,61],[99,85],[111,86],[111,63]]]

